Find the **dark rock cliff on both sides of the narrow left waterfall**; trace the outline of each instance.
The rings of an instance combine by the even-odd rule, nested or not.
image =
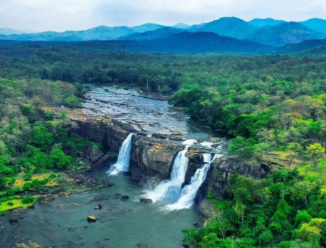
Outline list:
[[[101,123],[77,120],[74,123],[71,129],[73,135],[103,145],[103,151],[92,153],[97,158],[96,164],[101,165],[110,162],[112,153],[118,153],[129,133],[136,133],[130,125],[120,122]],[[130,173],[133,179],[143,184],[149,180],[167,179],[170,176],[174,156],[184,149],[175,142],[147,137],[142,133],[133,135],[131,142]]]

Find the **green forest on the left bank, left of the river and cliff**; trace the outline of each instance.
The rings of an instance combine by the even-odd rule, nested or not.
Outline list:
[[[71,137],[65,112],[46,108],[79,107],[83,87],[39,78],[0,79],[0,215],[30,206],[38,190],[58,185],[87,140]],[[28,194],[26,195],[26,192]]]

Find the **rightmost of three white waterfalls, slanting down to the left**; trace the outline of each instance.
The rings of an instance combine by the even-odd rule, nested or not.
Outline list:
[[[193,206],[197,191],[206,180],[207,172],[209,172],[211,163],[213,163],[215,158],[220,158],[221,156],[222,154],[215,154],[212,158],[211,154],[203,154],[205,164],[196,170],[195,175],[191,178],[190,184],[182,189],[178,201],[167,206],[168,210],[180,210]]]

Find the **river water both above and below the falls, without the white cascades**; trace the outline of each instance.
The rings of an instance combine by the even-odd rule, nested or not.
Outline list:
[[[222,140],[219,133],[193,122],[167,101],[152,99],[136,90],[90,88],[86,97],[85,113],[111,115],[148,135],[178,134],[209,147]],[[217,139],[212,142],[212,137]],[[17,224],[9,223],[15,211],[0,217],[3,223],[0,232],[5,233],[0,237],[1,248],[14,247],[16,242],[26,240],[42,247],[181,248],[184,238],[181,231],[202,223],[196,210],[167,211],[166,204],[159,201],[141,204],[139,199],[146,189],[129,176],[109,176],[105,173],[109,166],[95,168],[91,175],[114,183],[111,188],[61,195],[48,204],[37,202],[34,209],[19,213]],[[129,200],[122,201],[122,195],[128,195]],[[94,200],[99,198],[103,208],[95,210],[98,202]],[[97,222],[88,222],[88,215],[97,216]]]

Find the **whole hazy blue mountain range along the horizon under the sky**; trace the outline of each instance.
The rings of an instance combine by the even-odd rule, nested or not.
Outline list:
[[[288,49],[296,52],[307,48],[317,49],[316,44],[322,46],[325,38],[326,20],[324,19],[286,22],[268,18],[245,22],[236,17],[223,17],[213,22],[193,26],[182,23],[174,26],[147,23],[134,27],[98,26],[85,31],[42,33],[19,33],[10,28],[0,28],[0,40],[38,42],[115,40],[116,42],[111,42],[110,46],[115,44],[117,49],[161,51],[162,49],[157,45],[160,44],[168,52],[193,49],[194,53],[231,52],[231,50],[246,53],[250,49],[252,53],[265,51],[284,53]],[[184,49],[181,41],[184,42]]]

